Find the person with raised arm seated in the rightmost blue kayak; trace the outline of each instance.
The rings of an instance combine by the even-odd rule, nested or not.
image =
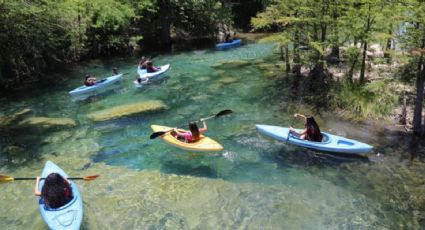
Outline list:
[[[300,139],[321,142],[323,135],[320,132],[320,128],[312,116],[305,116],[299,113],[294,114],[294,117],[301,117],[304,119],[305,129],[302,132],[295,131],[292,127],[289,127],[289,132],[292,135],[298,136]]]

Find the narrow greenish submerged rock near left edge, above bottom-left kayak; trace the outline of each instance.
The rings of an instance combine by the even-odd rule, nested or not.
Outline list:
[[[70,118],[51,118],[51,117],[30,117],[21,122],[18,126],[25,127],[34,127],[42,129],[50,128],[70,128],[75,127],[77,122]]]

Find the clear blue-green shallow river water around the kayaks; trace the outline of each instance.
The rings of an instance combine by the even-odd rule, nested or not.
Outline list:
[[[93,61],[66,73],[63,85],[2,100],[1,114],[24,108],[34,116],[78,122],[59,131],[20,130],[1,136],[1,174],[32,176],[49,159],[70,175],[100,173],[79,182],[85,204],[83,229],[421,229],[425,224],[425,165],[410,159],[397,136],[378,138],[376,125],[316,115],[324,131],[373,144],[384,157],[370,160],[316,154],[259,135],[256,123],[289,125],[294,112],[311,112],[290,100],[288,80],[264,68],[270,44],[226,51],[164,55],[171,64],[160,81],[136,89],[136,59]],[[114,90],[73,102],[67,92],[86,72],[125,75]],[[306,93],[308,94],[308,93]],[[106,122],[86,115],[146,100],[168,109]],[[3,103],[4,102],[4,103]],[[177,126],[232,109],[208,121],[208,136],[225,150],[193,153],[160,139],[151,124]],[[301,125],[300,123],[294,123]],[[11,153],[10,146],[21,152]],[[33,182],[0,185],[1,229],[45,229]]]

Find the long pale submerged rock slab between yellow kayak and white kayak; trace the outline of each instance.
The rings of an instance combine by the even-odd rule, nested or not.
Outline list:
[[[92,121],[107,121],[124,116],[132,116],[140,113],[167,109],[167,106],[159,100],[145,101],[120,105],[110,109],[96,111],[87,115]]]

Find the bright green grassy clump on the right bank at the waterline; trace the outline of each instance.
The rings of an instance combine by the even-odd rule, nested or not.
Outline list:
[[[351,119],[387,118],[398,101],[395,87],[388,81],[376,81],[366,86],[346,82],[334,90],[331,106],[344,111],[344,115]]]

